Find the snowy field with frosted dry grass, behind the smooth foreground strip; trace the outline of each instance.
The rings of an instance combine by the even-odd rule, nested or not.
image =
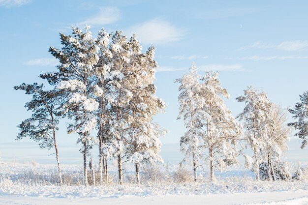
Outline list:
[[[57,185],[57,167],[54,165],[1,164],[0,195],[31,196],[39,198],[113,198],[127,196],[213,195],[258,192],[307,191],[306,181],[254,181],[251,172],[232,166],[224,173],[216,173],[216,182],[199,173],[199,182],[180,182],[174,178],[176,166],[165,166],[159,174],[146,176],[141,172],[141,185],[137,185],[133,167],[127,167],[123,185],[117,182],[116,168],[110,166],[106,185],[83,186],[82,167],[63,165],[66,185]],[[157,172],[157,171],[156,171]],[[168,173],[169,172],[169,173]],[[170,174],[171,173],[171,174]],[[70,180],[66,177],[70,176]],[[163,176],[163,177],[162,177]],[[308,194],[308,191],[307,191]]]

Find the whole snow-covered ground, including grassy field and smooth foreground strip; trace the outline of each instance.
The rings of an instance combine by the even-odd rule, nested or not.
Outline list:
[[[216,173],[215,183],[207,173],[199,173],[199,182],[179,183],[174,179],[176,166],[163,166],[162,177],[149,180],[142,173],[142,184],[134,181],[132,167],[126,167],[124,185],[117,183],[117,173],[110,166],[110,182],[103,186],[82,186],[82,167],[63,165],[66,184],[57,185],[54,165],[0,164],[0,205],[305,205],[308,204],[306,181],[254,181],[242,166]],[[153,171],[153,170],[152,170]],[[279,202],[283,201],[283,202]],[[267,205],[266,204],[266,205]]]

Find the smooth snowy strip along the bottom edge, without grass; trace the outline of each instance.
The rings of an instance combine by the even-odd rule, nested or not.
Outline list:
[[[125,196],[104,198],[39,198],[0,196],[0,205],[307,205],[308,191],[208,195]]]

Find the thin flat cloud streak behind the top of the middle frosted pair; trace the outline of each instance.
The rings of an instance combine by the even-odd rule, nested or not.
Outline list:
[[[156,72],[163,71],[179,71],[188,70],[189,67],[158,67]],[[198,70],[202,71],[249,71],[246,70],[241,64],[207,64],[207,65],[197,65]]]

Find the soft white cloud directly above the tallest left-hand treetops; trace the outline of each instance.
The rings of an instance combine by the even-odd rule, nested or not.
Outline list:
[[[120,10],[116,7],[100,8],[99,13],[82,22],[77,23],[78,26],[88,24],[90,26],[112,24],[120,18]]]

